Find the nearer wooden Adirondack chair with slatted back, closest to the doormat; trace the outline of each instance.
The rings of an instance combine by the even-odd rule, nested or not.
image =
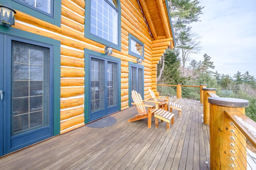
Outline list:
[[[128,122],[148,118],[148,127],[151,127],[151,117],[154,115],[154,112],[158,110],[159,102],[142,100],[140,94],[135,90],[132,90],[132,100],[133,100],[132,104],[136,106],[138,115],[136,115],[131,119],[128,119]],[[152,105],[144,104],[144,102],[154,102],[156,106],[154,107]],[[148,110],[146,110],[146,107],[148,107]]]

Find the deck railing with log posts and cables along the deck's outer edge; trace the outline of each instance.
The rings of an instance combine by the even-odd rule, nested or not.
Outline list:
[[[170,87],[172,89],[176,87],[176,94],[165,94]],[[186,95],[182,92],[182,87],[199,90],[198,100],[204,107],[203,120],[206,125],[210,125],[210,169],[256,169],[256,158],[252,156],[256,152],[256,122],[245,115],[245,107],[248,106],[249,101],[221,98],[216,95],[216,88],[206,88],[205,84],[200,86],[159,84],[157,91],[160,96],[184,98]],[[254,153],[247,148],[252,148]]]

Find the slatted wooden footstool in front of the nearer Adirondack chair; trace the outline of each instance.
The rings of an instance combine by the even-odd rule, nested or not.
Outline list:
[[[156,123],[155,123],[156,127],[158,127],[158,119],[160,119],[162,122],[166,121],[167,123],[166,130],[170,130],[170,121],[172,125],[174,123],[174,114],[164,109],[158,109],[157,111],[155,111],[154,117],[156,119]]]

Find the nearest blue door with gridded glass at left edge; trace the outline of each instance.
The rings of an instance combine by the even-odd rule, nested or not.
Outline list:
[[[52,47],[1,34],[0,47],[1,156],[52,136]]]

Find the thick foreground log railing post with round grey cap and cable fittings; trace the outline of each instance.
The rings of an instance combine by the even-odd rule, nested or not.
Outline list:
[[[234,129],[234,126],[230,125],[231,121],[224,111],[240,111],[244,114],[249,101],[214,97],[208,98],[208,102],[210,103],[210,170],[232,169],[230,164],[233,164],[233,160],[230,158],[234,155],[230,152],[232,150],[230,143],[234,141],[230,137],[234,134],[230,130]],[[237,138],[239,139],[236,140],[240,141],[238,144],[240,146],[237,146],[240,151],[236,154],[236,158],[240,160],[236,161],[247,167],[246,149],[242,147],[242,145],[246,146],[246,140],[241,135]]]

